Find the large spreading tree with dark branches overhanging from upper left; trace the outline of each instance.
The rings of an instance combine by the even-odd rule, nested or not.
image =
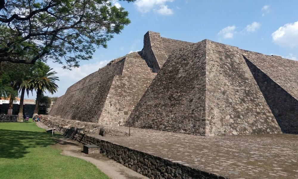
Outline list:
[[[63,59],[64,68],[78,67],[130,23],[110,0],[11,0],[0,10],[0,62]]]

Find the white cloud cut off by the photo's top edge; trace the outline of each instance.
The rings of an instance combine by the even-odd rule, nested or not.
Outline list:
[[[174,11],[168,8],[166,3],[173,1],[174,0],[136,0],[134,5],[141,13],[148,13],[153,10],[161,15],[171,15]]]

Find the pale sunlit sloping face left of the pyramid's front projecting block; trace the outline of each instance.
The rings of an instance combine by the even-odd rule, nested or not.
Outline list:
[[[139,53],[126,55],[122,75],[114,77],[99,123],[118,125],[122,119],[124,124],[155,76]]]

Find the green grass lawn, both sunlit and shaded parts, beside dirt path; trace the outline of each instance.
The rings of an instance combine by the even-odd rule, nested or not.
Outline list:
[[[108,178],[92,163],[54,149],[60,134],[46,133],[35,122],[0,123],[0,178]]]

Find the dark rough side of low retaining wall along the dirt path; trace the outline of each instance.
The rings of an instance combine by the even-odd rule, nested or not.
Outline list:
[[[49,124],[49,120],[42,121],[44,124]],[[95,144],[100,146],[100,153],[104,156],[121,163],[122,165],[147,176],[152,179],[226,179],[212,173],[204,172],[198,169],[190,168],[180,163],[174,163],[169,160],[150,155],[148,153],[140,152],[130,149],[125,146],[120,146],[91,135],[84,134],[82,130],[75,127],[65,128],[55,126],[58,132],[61,132],[66,137],[75,141],[87,144]]]

